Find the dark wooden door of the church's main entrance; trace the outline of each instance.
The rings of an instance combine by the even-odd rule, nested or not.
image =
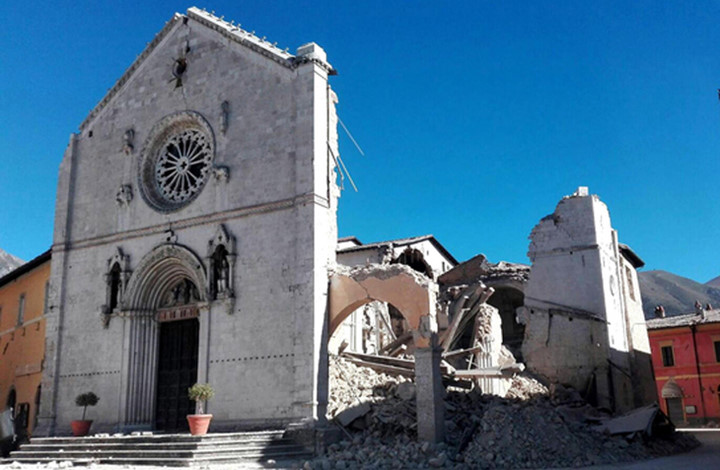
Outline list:
[[[195,413],[195,403],[188,398],[188,388],[197,381],[198,333],[197,318],[160,323],[155,402],[157,430],[185,431],[186,416]]]

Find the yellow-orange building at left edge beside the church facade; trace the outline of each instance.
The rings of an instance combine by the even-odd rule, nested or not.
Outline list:
[[[0,410],[29,435],[40,403],[50,250],[0,278]]]

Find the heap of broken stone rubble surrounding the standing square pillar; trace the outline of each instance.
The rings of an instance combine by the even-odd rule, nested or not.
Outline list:
[[[342,426],[346,439],[330,445],[306,467],[571,467],[646,459],[697,445],[668,427],[654,428],[656,434],[665,429],[664,436],[649,435],[647,416],[652,410],[643,411],[642,426],[632,430],[637,419],[609,420],[574,390],[549,390],[521,374],[513,378],[506,398],[477,388],[448,392],[446,443],[418,443],[412,378],[332,356],[330,381],[329,417]],[[651,421],[661,422],[662,417],[653,413]],[[646,432],[640,430],[645,427]]]

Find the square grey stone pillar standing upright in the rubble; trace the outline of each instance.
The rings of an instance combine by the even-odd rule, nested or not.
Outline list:
[[[441,349],[415,350],[415,385],[417,386],[418,440],[445,440],[445,389],[440,375]]]

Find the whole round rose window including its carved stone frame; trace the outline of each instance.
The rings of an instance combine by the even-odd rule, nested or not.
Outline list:
[[[195,199],[214,156],[212,130],[197,113],[170,115],[155,125],[141,154],[139,183],[154,209],[169,212]]]

